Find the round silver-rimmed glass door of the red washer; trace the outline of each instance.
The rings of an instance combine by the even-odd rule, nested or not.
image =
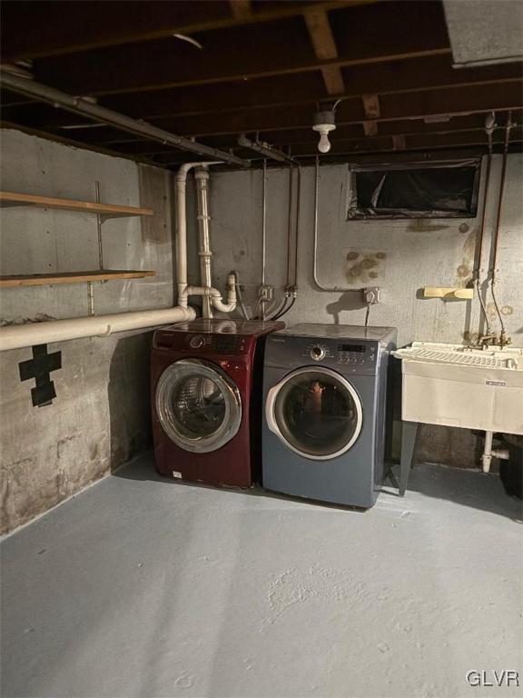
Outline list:
[[[166,368],[155,403],[164,432],[185,451],[215,451],[231,441],[242,422],[236,385],[221,368],[199,359]]]

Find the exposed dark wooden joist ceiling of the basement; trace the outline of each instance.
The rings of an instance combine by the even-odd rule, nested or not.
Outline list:
[[[522,121],[522,64],[454,69],[439,0],[124,7],[5,0],[3,61],[25,61],[44,85],[95,95],[100,106],[241,157],[240,132],[316,155],[312,114],[338,98],[333,154],[481,148],[488,112],[504,123],[512,110]],[[370,110],[370,98],[378,110]],[[192,159],[13,92],[2,94],[2,104],[6,121],[57,138],[153,162]],[[520,129],[511,139],[521,141]]]

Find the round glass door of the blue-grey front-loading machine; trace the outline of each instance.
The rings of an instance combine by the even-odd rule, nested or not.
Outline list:
[[[292,451],[327,460],[345,453],[361,431],[360,397],[349,381],[329,368],[301,368],[271,388],[269,428]]]

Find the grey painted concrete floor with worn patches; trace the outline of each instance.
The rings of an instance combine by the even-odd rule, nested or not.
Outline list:
[[[8,537],[5,698],[515,695],[520,503],[421,465],[367,513],[170,483],[143,457]]]

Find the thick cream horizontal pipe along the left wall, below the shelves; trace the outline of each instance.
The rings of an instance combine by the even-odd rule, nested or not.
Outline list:
[[[0,351],[84,337],[106,337],[115,332],[155,327],[159,324],[182,323],[195,317],[196,313],[192,308],[177,307],[9,325],[0,328]]]

